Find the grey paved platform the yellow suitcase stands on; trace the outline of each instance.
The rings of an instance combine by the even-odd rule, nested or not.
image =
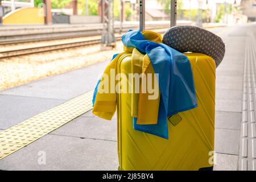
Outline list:
[[[213,31],[226,46],[216,70],[214,170],[256,170],[256,24]],[[91,111],[107,64],[0,92],[0,170],[117,170],[117,119]]]

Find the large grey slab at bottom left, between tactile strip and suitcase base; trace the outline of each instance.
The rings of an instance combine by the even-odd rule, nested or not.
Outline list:
[[[117,170],[117,142],[46,135],[0,160],[0,169]]]

